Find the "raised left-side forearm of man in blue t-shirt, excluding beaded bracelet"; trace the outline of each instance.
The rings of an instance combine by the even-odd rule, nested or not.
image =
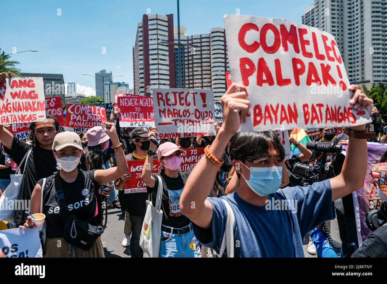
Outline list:
[[[221,160],[227,143],[233,134],[225,133],[219,130],[214,142],[209,147],[210,152]],[[201,204],[204,204],[212,186],[219,167],[212,163],[205,155],[199,160],[194,167],[187,182],[184,185],[182,196],[180,198],[180,206],[185,209],[185,215],[188,217],[190,214],[195,214],[195,208],[199,208]],[[192,209],[192,202],[195,202],[196,206]]]

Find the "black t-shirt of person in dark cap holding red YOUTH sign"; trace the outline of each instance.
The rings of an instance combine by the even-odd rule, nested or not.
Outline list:
[[[134,151],[127,155],[127,160],[145,160],[147,156],[142,157],[143,159],[134,155]],[[146,192],[132,192],[125,194],[125,209],[133,216],[145,216],[146,213],[146,201],[148,200],[149,194]]]

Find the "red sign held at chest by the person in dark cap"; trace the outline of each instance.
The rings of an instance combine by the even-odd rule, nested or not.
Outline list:
[[[130,179],[125,182],[125,193],[137,193],[146,192],[146,185],[142,183],[141,175],[142,168],[144,167],[145,160],[131,160],[127,161],[128,172],[130,173]],[[152,173],[158,173],[161,170],[159,160],[153,160]]]

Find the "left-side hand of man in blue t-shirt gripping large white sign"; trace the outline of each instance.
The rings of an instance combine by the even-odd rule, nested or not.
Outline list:
[[[238,83],[232,83],[222,96],[222,128],[228,134],[233,135],[238,130],[241,122],[247,122],[247,117],[251,115],[251,104],[247,96],[246,87]]]

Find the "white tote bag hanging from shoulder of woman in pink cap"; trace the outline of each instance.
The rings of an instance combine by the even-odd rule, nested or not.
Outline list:
[[[163,211],[161,210],[163,182],[159,175],[155,175],[154,177],[157,177],[159,180],[155,203],[157,207],[153,207],[151,200],[148,199],[146,201],[146,213],[140,234],[140,247],[149,257],[159,257],[161,222],[163,221]]]

